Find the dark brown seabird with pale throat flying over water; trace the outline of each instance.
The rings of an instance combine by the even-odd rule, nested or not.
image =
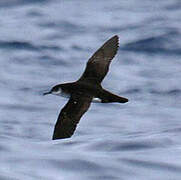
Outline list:
[[[49,92],[43,94],[69,98],[59,113],[52,140],[70,138],[94,100],[100,103],[128,102],[127,98],[113,94],[101,85],[112,59],[117,54],[118,47],[119,37],[115,35],[89,58],[82,76],[77,81],[55,85]]]

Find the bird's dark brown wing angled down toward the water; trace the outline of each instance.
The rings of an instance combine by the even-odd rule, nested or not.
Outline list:
[[[73,135],[82,115],[88,110],[92,96],[72,95],[61,110],[53,133],[54,139],[69,138]]]

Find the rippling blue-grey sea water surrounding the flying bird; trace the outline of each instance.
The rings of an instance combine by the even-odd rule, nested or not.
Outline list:
[[[180,180],[181,2],[0,1],[0,179]],[[92,104],[52,141],[76,80],[102,43],[120,48],[103,86],[127,104]]]

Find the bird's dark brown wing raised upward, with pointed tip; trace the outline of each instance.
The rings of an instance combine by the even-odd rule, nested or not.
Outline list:
[[[79,80],[90,80],[101,83],[106,76],[111,60],[117,53],[119,47],[118,36],[113,36],[106,41],[88,60],[86,69]]]

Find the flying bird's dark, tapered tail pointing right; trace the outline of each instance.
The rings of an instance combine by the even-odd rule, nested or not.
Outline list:
[[[103,90],[103,92],[101,93],[101,96],[99,98],[101,99],[102,103],[113,103],[113,102],[126,103],[126,102],[128,102],[127,98],[117,96],[106,90]]]

